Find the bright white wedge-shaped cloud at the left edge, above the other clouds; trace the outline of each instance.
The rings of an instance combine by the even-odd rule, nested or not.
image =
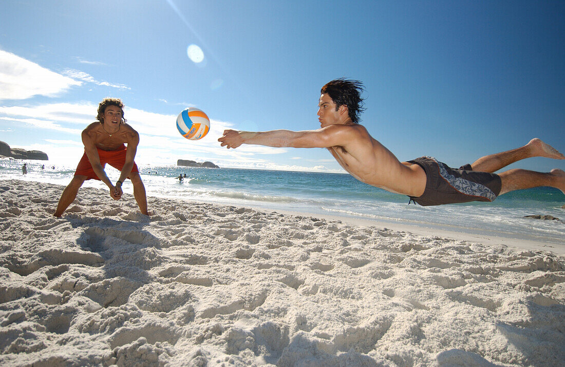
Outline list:
[[[0,50],[0,100],[53,97],[82,82]]]

